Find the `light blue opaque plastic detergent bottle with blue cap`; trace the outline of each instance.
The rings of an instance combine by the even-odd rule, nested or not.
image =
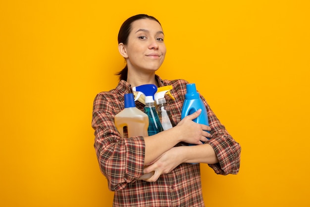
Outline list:
[[[204,124],[204,125],[209,126],[206,106],[203,100],[200,98],[199,93],[196,90],[195,83],[189,83],[186,85],[186,94],[185,94],[185,100],[184,100],[183,107],[182,107],[181,119],[183,119],[184,117],[188,115],[195,113],[199,109],[201,109],[202,112],[199,115],[199,117],[197,117],[193,121],[199,124]]]

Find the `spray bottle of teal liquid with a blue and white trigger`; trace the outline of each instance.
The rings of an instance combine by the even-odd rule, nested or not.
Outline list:
[[[156,108],[154,106],[154,94],[157,91],[156,85],[154,84],[140,85],[133,87],[132,90],[139,91],[135,100],[138,100],[142,94],[145,95],[144,112],[149,117],[149,128],[148,128],[149,136],[155,135],[163,131],[161,123],[159,121],[159,117],[156,112]]]

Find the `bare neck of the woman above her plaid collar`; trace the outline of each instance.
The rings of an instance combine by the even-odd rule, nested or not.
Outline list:
[[[144,84],[155,84],[158,87],[158,83],[155,80],[155,71],[149,73],[135,73],[128,71],[127,82],[132,87]]]

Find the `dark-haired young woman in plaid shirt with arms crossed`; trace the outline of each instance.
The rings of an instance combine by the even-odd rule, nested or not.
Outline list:
[[[163,80],[155,74],[166,54],[164,33],[157,19],[146,14],[128,18],[119,30],[118,43],[127,65],[118,73],[116,88],[96,96],[92,121],[99,165],[109,189],[115,191],[113,206],[203,207],[200,165],[192,163],[207,163],[217,174],[237,174],[239,143],[202,96],[209,127],[192,121],[201,111],[181,120],[188,82]],[[170,92],[176,100],[167,98],[167,103],[177,126],[149,137],[121,138],[114,116],[124,109],[124,94],[133,93],[134,86],[150,83],[173,86]],[[142,111],[144,106],[136,102]],[[196,145],[176,146],[179,142]]]

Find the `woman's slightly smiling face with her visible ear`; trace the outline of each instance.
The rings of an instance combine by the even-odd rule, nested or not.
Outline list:
[[[163,39],[162,28],[155,20],[139,19],[132,22],[127,45],[119,45],[128,70],[154,72],[159,69],[166,54]]]

